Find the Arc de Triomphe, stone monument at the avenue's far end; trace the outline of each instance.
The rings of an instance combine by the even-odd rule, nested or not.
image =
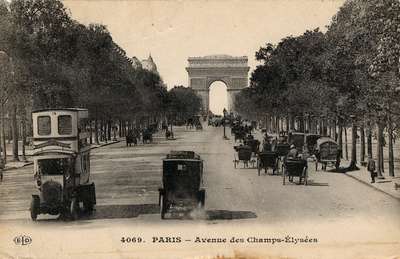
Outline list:
[[[228,91],[228,111],[234,111],[235,94],[247,87],[248,58],[215,55],[189,57],[186,71],[189,75],[189,87],[196,91],[203,101],[203,112],[209,111],[210,86],[215,81],[225,83]]]

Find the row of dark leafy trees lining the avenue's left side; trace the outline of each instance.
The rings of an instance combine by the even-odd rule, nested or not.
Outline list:
[[[0,0],[0,50],[1,140],[5,150],[11,127],[15,160],[18,124],[25,142],[32,109],[88,108],[98,142],[177,105],[158,73],[134,67],[105,26],[71,19],[60,0]]]

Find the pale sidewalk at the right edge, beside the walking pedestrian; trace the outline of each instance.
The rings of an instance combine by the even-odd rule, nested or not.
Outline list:
[[[370,173],[368,172],[367,168],[361,165],[357,166],[360,168],[360,170],[347,172],[345,174],[365,185],[374,188],[375,190],[386,193],[387,195],[400,200],[400,175],[398,175],[400,172],[395,172],[395,177],[388,176],[388,173],[385,172],[383,174],[385,179],[375,178],[375,183],[371,183]],[[399,186],[397,190],[395,189],[395,184]]]

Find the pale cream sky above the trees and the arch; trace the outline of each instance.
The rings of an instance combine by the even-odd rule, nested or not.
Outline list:
[[[83,24],[107,26],[129,57],[151,53],[168,88],[188,86],[190,56],[248,56],[265,43],[319,27],[325,31],[344,0],[64,0]],[[250,76],[249,73],[249,76]]]

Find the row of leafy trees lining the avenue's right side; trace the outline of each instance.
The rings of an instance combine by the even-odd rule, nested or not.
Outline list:
[[[326,33],[315,29],[277,45],[267,43],[256,52],[261,65],[235,107],[247,117],[267,114],[277,131],[330,133],[340,145],[343,129],[352,127],[349,169],[356,168],[357,132],[364,161],[366,148],[372,155],[376,131],[379,174],[386,130],[393,176],[393,142],[400,127],[399,13],[397,0],[348,0]]]

